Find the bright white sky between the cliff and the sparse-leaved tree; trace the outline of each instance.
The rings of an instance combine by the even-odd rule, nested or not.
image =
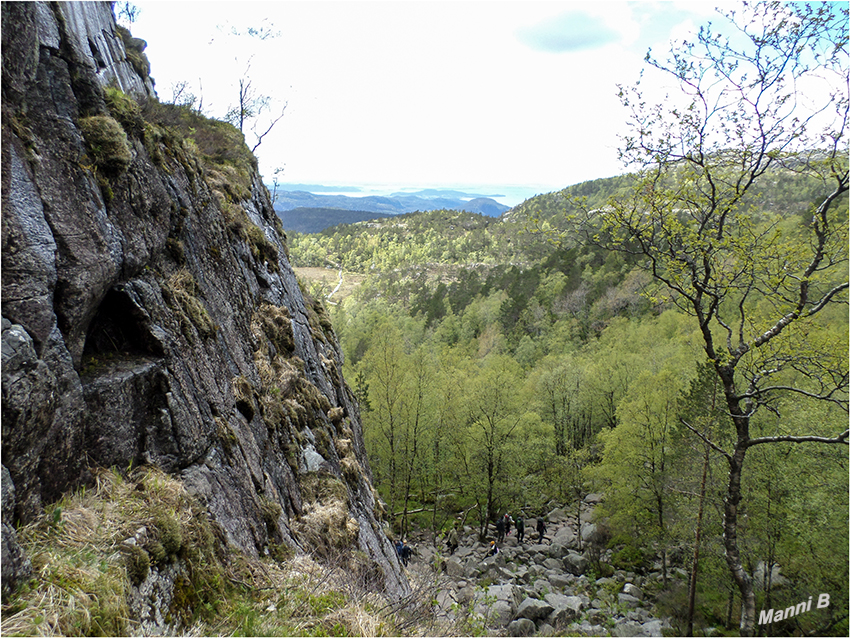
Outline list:
[[[129,27],[148,43],[161,100],[172,101],[185,82],[184,96],[192,93],[206,115],[223,117],[241,78],[268,96],[263,117],[285,107],[256,151],[267,183],[278,171],[288,183],[526,196],[624,172],[617,85],[638,79],[650,47],[668,50],[671,40],[716,17],[718,6],[134,4],[139,13]]]

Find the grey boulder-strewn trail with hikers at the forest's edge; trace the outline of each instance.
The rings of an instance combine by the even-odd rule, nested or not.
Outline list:
[[[551,510],[542,541],[534,531],[537,519],[526,519],[523,542],[512,528],[495,556],[487,556],[495,532],[481,542],[478,531],[466,526],[453,553],[440,540],[435,546],[430,537],[412,535],[415,554],[407,570],[413,580],[435,586],[441,621],[466,622],[485,635],[671,635],[650,594],[661,587],[660,569],[645,576],[613,568],[606,570],[613,572],[609,576],[595,572],[594,553],[607,563],[611,550],[600,550],[594,498],[588,497],[580,524],[561,508]]]

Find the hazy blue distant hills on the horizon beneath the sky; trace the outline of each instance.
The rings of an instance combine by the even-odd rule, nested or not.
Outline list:
[[[463,196],[466,195],[466,199]],[[416,211],[460,210],[498,217],[510,210],[490,197],[472,197],[460,191],[428,190],[415,194],[394,193],[389,197],[346,195],[317,195],[307,191],[277,191],[275,210],[278,213],[295,208],[324,208],[400,215]],[[286,228],[286,226],[284,226]]]

